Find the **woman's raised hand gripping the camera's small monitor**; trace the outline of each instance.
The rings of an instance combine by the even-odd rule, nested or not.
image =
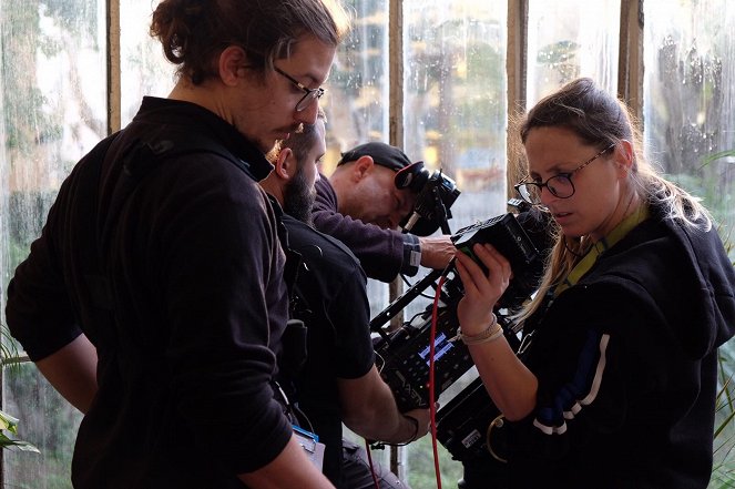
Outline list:
[[[480,334],[492,319],[492,308],[508,288],[510,263],[492,245],[476,244],[472,253],[488,268],[482,268],[462,252],[455,263],[465,286],[465,296],[457,306],[457,317],[466,335]]]

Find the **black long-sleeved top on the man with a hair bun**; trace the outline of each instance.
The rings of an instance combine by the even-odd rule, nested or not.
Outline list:
[[[150,157],[193,137],[234,160]],[[112,143],[98,186],[99,163],[82,160],[62,184],[7,306],[33,360],[81,333],[98,348],[74,487],[244,487],[236,475],[292,435],[270,386],[287,319],[285,256],[256,182],[272,166],[212,112],[152,98]]]

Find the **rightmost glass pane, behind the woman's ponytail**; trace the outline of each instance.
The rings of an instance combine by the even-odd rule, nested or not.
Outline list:
[[[735,243],[735,4],[646,0],[647,156],[704,198]],[[735,251],[731,252],[735,259]]]

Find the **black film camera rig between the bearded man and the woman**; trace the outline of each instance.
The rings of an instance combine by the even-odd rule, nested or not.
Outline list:
[[[519,306],[535,289],[540,254],[514,214],[503,214],[465,227],[453,234],[451,240],[458,249],[474,259],[472,245],[490,243],[510,261],[513,278],[499,302],[501,307]],[[433,332],[435,399],[429,399],[428,384],[432,307],[427,306],[421,314],[394,332],[387,332],[384,325],[429,286],[437,291],[442,272],[430,272],[370,322],[370,329],[380,335],[375,343],[378,369],[391,388],[401,411],[429,406],[473,366],[465,344],[455,339],[459,327],[457,304],[465,291],[453,264],[443,274],[445,281],[438,291],[439,307]],[[511,346],[517,349],[519,340],[513,323],[503,314],[498,315],[498,320]],[[497,415],[497,409],[478,379],[439,409],[437,437],[455,458],[463,460],[484,450],[487,442],[480,428],[488,427]]]

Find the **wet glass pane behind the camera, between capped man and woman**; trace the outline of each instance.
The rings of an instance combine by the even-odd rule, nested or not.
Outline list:
[[[506,1],[404,1],[404,147],[456,181],[461,194],[450,210],[451,232],[506,212]],[[417,297],[405,320],[429,305]],[[468,383],[452,384],[453,394]],[[409,485],[435,487],[431,438],[407,451]],[[453,487],[461,463],[441,445],[438,454],[442,481]]]

